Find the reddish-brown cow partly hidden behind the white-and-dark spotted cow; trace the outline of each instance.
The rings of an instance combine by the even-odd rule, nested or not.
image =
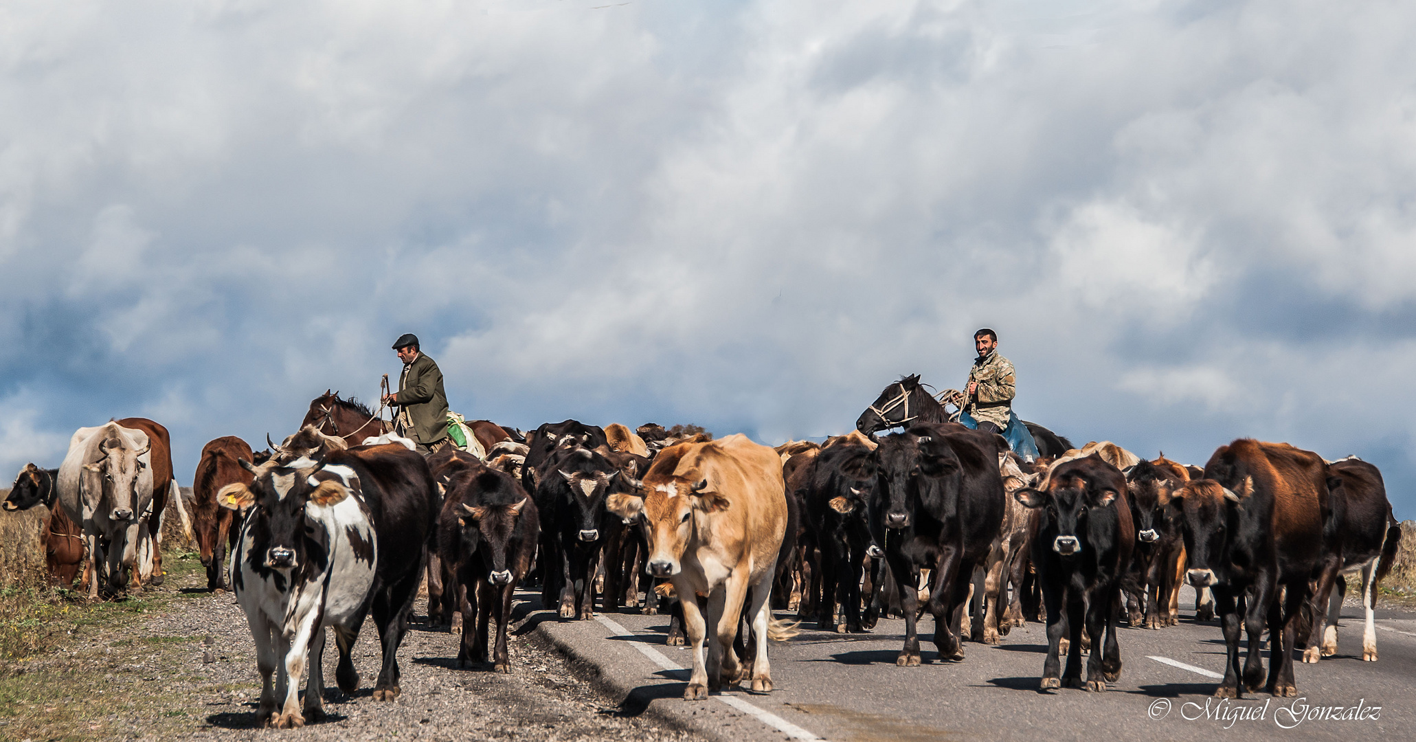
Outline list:
[[[193,530],[201,564],[207,568],[207,589],[227,589],[227,549],[236,548],[238,530],[232,530],[236,511],[217,503],[217,491],[227,484],[251,484],[255,477],[241,462],[255,456],[251,445],[236,436],[222,436],[201,447],[197,473],[191,479]]]

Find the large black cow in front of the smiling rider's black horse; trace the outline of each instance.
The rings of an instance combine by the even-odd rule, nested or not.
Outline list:
[[[935,616],[939,657],[963,658],[960,643],[974,568],[988,556],[1003,524],[1004,490],[998,455],[1003,436],[957,423],[920,423],[881,440],[869,456],[844,470],[874,479],[869,527],[905,610],[905,649],[895,664],[919,666],[919,571],[933,569],[926,610]]]

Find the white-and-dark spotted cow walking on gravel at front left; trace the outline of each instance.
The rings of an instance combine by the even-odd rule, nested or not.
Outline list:
[[[293,463],[307,466],[268,469],[242,460],[256,473],[255,481],[228,484],[217,497],[222,507],[249,511],[232,554],[231,579],[256,641],[263,683],[256,721],[278,728],[324,717],[320,657],[326,626],[334,630],[340,650],[340,688],[358,688],[350,650],[374,595],[379,556],[354,469]],[[302,712],[297,688],[307,657]]]

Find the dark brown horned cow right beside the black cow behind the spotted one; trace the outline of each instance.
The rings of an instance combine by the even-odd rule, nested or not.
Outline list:
[[[457,650],[459,667],[487,661],[489,619],[496,610],[493,668],[511,671],[507,654],[511,595],[531,569],[538,535],[535,503],[511,474],[464,469],[452,477],[438,517],[438,551],[456,573],[453,589],[466,626]]]

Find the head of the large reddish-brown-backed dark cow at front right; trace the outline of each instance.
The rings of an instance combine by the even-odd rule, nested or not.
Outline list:
[[[1221,581],[1229,547],[1239,530],[1238,510],[1253,494],[1253,477],[1245,477],[1236,490],[1212,479],[1182,484],[1170,498],[1170,515],[1185,540],[1189,569],[1185,581],[1194,588],[1209,588]]]

